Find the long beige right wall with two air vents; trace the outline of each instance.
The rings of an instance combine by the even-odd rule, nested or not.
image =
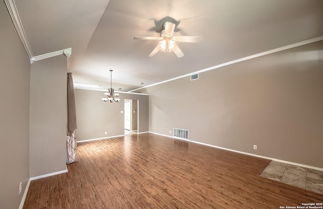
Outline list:
[[[141,92],[151,132],[323,168],[323,41]]]

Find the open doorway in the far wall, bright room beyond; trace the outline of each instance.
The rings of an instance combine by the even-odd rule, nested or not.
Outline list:
[[[138,133],[138,105],[139,100],[125,99],[124,116],[125,116],[125,135]]]

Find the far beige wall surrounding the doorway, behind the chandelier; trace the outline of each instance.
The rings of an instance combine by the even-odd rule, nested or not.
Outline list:
[[[139,100],[138,132],[148,131],[148,95],[120,93],[120,101],[111,103],[102,101],[103,91],[74,89],[74,93],[77,141],[124,135],[124,99]]]

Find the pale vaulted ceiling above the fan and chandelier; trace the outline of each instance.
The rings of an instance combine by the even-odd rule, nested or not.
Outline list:
[[[74,81],[122,91],[189,74],[323,35],[321,0],[16,0],[34,56],[72,47]],[[162,24],[176,35],[201,36],[184,53],[148,55]],[[144,85],[139,83],[143,82]]]

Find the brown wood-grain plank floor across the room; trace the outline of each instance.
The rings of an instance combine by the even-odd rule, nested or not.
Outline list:
[[[83,142],[23,208],[280,208],[323,195],[260,177],[269,160],[151,133]]]

